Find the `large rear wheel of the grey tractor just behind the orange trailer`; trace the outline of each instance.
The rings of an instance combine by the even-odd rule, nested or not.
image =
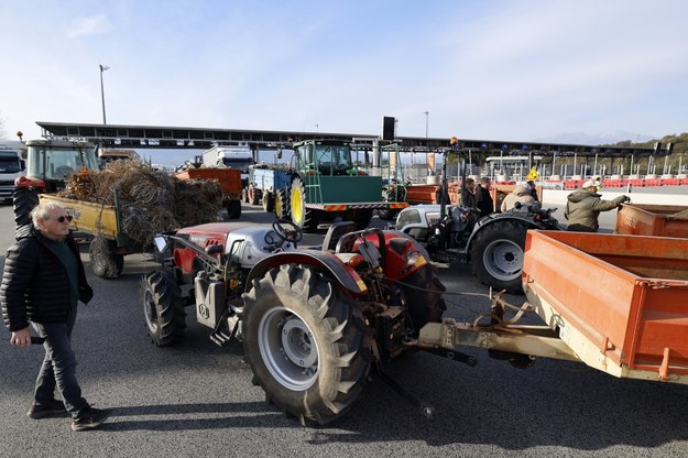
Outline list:
[[[521,271],[525,252],[524,225],[503,220],[484,226],[471,243],[473,273],[485,285],[522,294]]]

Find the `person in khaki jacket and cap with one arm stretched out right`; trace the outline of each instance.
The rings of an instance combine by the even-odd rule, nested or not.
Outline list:
[[[576,232],[597,232],[600,228],[600,211],[619,208],[621,204],[631,201],[627,196],[619,196],[612,200],[603,200],[598,194],[598,185],[592,179],[568,195],[564,217],[569,221],[567,230]]]

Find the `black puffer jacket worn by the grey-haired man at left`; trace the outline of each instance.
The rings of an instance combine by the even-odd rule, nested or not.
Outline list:
[[[0,286],[4,325],[10,331],[17,331],[29,326],[29,320],[66,321],[72,302],[64,264],[48,239],[32,226],[18,231],[17,240],[8,249]],[[77,260],[79,301],[86,304],[92,298],[94,291],[86,281],[79,249],[72,235],[67,237],[67,244]]]

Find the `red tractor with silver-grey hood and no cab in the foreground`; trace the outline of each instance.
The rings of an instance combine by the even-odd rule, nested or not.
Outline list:
[[[411,237],[353,229],[332,225],[323,249],[297,249],[301,229],[286,220],[272,230],[222,222],[156,237],[162,269],[146,276],[143,293],[149,335],[173,344],[194,305],[214,341],[243,341],[253,383],[302,424],[341,416],[371,374],[415,400],[383,367],[417,348],[411,342],[423,326],[440,321],[445,287]]]

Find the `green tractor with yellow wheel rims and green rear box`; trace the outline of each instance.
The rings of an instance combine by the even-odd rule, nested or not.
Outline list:
[[[295,143],[290,184],[277,190],[275,210],[288,215],[305,232],[315,232],[320,222],[336,218],[353,221],[361,230],[374,210],[406,207],[403,200],[383,198],[383,189],[395,179],[391,171],[396,167],[380,161],[380,150],[338,140]],[[372,164],[370,152],[378,156]]]

